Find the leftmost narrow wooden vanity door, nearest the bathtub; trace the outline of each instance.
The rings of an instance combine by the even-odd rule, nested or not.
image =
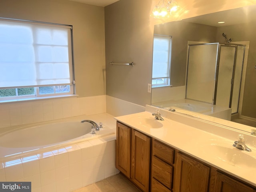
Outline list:
[[[131,128],[116,123],[116,168],[130,178]]]

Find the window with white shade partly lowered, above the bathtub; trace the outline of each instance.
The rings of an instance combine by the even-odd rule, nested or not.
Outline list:
[[[0,19],[0,100],[73,94],[72,26]]]

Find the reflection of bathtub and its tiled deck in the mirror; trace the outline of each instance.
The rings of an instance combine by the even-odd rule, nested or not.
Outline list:
[[[165,102],[154,103],[152,105],[156,105],[168,110],[175,109],[177,112],[182,112],[184,114],[198,118],[200,118],[200,114],[204,114],[217,118],[222,118],[229,121],[231,120],[231,108],[216,106],[194,100],[169,100]]]

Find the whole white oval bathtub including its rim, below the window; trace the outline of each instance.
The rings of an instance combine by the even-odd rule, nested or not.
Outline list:
[[[0,134],[0,159],[45,152],[114,134],[113,130],[106,127],[92,134],[91,128],[92,124],[80,121],[21,126]]]

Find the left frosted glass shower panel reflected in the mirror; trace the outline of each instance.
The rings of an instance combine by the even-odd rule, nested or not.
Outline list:
[[[219,43],[188,46],[186,99],[213,103]]]

